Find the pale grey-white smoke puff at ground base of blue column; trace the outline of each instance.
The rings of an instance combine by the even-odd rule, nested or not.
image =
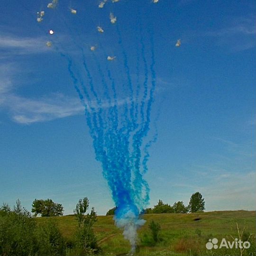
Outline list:
[[[137,242],[137,229],[143,226],[145,219],[137,219],[133,211],[129,210],[122,219],[114,217],[116,225],[123,229],[124,238],[128,239],[131,244],[131,253],[135,252]]]

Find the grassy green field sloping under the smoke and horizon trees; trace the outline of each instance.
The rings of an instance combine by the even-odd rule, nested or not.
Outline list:
[[[37,218],[43,224],[47,218]],[[72,241],[77,221],[74,216],[54,217],[63,235]],[[205,244],[210,238],[226,238],[229,241],[238,238],[237,223],[240,232],[245,228],[243,241],[251,236],[251,247],[242,255],[256,255],[256,211],[212,211],[190,214],[146,214],[145,225],[138,231],[138,246],[135,255],[241,255],[240,249],[207,250]],[[161,226],[161,241],[152,246],[148,224],[150,220]],[[126,255],[130,246],[123,238],[122,231],[114,225],[113,216],[98,216],[95,233],[104,255]]]

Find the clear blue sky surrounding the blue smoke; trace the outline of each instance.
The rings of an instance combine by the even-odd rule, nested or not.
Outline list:
[[[51,198],[70,214],[87,196],[99,214],[113,207],[59,50],[79,60],[83,47],[90,63],[89,46],[96,45],[104,64],[103,44],[117,55],[111,68],[121,79],[118,35],[109,22],[113,12],[132,76],[138,24],[146,47],[148,30],[154,33],[157,78],[149,138],[155,125],[158,138],[145,175],[150,205],[159,198],[187,204],[199,191],[208,211],[256,209],[255,1],[108,0],[99,9],[94,0],[60,0],[56,10],[47,3],[11,0],[0,16],[0,203],[13,205],[19,198],[31,210],[35,198]],[[46,15],[37,23],[41,10]],[[102,37],[97,26],[105,29]],[[182,45],[175,47],[179,38]],[[48,40],[53,47],[46,47]],[[98,76],[93,64],[91,73]]]

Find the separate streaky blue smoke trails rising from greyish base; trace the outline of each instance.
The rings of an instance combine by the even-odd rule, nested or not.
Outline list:
[[[121,38],[121,34],[119,33]],[[120,41],[121,42],[121,41]],[[145,56],[145,46],[141,39],[141,55],[144,61],[144,72],[145,81],[143,83],[144,94],[141,100],[140,114],[141,114],[141,124],[140,128],[132,136],[131,131],[135,131],[135,128],[139,125],[139,120],[136,115],[134,115],[134,110],[136,106],[133,104],[133,92],[130,89],[130,109],[128,110],[128,105],[126,104],[124,113],[126,120],[126,125],[119,127],[118,119],[118,100],[117,93],[115,89],[115,81],[111,76],[110,69],[107,68],[107,78],[111,83],[111,89],[113,92],[114,106],[108,106],[105,108],[98,102],[97,110],[93,111],[92,114],[89,111],[85,112],[87,118],[87,124],[90,129],[90,134],[93,139],[93,147],[95,151],[96,160],[101,162],[103,175],[108,182],[110,190],[112,192],[112,198],[117,206],[115,212],[116,224],[124,229],[124,236],[128,238],[131,243],[132,251],[135,250],[136,239],[137,239],[137,229],[145,223],[145,220],[139,218],[140,212],[146,206],[149,201],[149,188],[146,181],[143,179],[143,172],[147,170],[146,163],[149,157],[148,147],[156,140],[156,135],[153,141],[146,144],[144,151],[145,156],[142,163],[143,172],[141,171],[140,159],[142,157],[141,146],[143,143],[143,138],[146,137],[149,131],[150,124],[150,112],[153,99],[153,93],[155,90],[155,56],[154,56],[154,45],[152,41],[152,64],[150,65],[151,80],[152,85],[148,94],[148,68]],[[71,70],[72,62],[69,61],[68,69],[70,75],[73,79],[76,91],[79,94],[81,101],[84,101],[84,97],[78,88],[78,79],[75,77]],[[83,56],[83,65],[87,72],[87,78],[89,80],[90,88],[92,94],[96,97],[97,93],[93,93],[94,85],[86,65],[85,57]],[[107,86],[106,77],[103,75],[103,71],[100,64],[97,64],[99,73],[101,76],[101,83],[105,88],[104,95],[107,96],[108,102],[110,103],[110,92]],[[125,58],[124,62],[125,68],[128,66],[128,60]],[[126,69],[128,77],[128,86],[132,88],[132,83],[130,80],[129,70]],[[81,87],[85,92],[83,82],[80,81]],[[139,88],[137,89],[139,90]],[[136,92],[137,94],[138,92]],[[90,97],[86,93],[86,99],[90,100]],[[86,106],[86,104],[84,104]],[[146,109],[145,109],[146,106]],[[128,111],[127,111],[128,110]],[[129,113],[129,115],[128,115]],[[106,115],[109,124],[104,123],[101,115]],[[129,120],[130,118],[130,120]],[[132,143],[132,144],[131,144]],[[130,144],[132,146],[132,151],[130,149]]]

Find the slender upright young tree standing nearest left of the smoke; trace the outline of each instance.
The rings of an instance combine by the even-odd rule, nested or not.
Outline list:
[[[74,209],[74,215],[78,220],[78,229],[75,234],[76,250],[80,256],[99,252],[97,239],[92,229],[93,224],[97,221],[97,214],[94,207],[91,208],[90,214],[87,213],[89,200],[87,197],[80,199]]]

